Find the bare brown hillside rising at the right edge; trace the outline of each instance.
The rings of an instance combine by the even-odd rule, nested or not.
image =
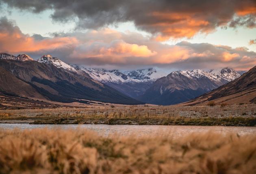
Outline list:
[[[185,104],[256,103],[256,66],[239,78]]]

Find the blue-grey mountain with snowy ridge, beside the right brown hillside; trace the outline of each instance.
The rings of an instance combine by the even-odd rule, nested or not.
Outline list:
[[[230,68],[223,68],[214,73],[204,70],[174,71],[158,79],[152,87],[137,100],[160,105],[186,102],[203,93],[216,89],[230,79],[240,76]]]

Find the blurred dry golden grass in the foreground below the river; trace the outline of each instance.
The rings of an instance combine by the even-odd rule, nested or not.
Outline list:
[[[256,136],[98,136],[87,130],[0,130],[0,173],[253,174]]]

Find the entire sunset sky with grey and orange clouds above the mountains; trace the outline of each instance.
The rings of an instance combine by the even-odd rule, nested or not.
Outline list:
[[[0,52],[133,70],[256,65],[255,0],[0,0]]]

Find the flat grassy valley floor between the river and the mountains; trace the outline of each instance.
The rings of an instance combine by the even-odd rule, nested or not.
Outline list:
[[[0,110],[0,123],[256,126],[256,104]]]

